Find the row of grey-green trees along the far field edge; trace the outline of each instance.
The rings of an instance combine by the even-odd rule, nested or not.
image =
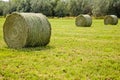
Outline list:
[[[120,0],[0,0],[0,16],[12,12],[43,13],[51,17],[79,14],[95,17],[114,14],[120,17]]]

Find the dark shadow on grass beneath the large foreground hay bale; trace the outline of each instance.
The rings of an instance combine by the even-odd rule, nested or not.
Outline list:
[[[9,48],[9,47],[6,47],[8,49],[11,49],[11,50],[15,50],[15,51],[20,51],[20,52],[32,52],[32,51],[42,51],[42,50],[50,50],[50,49],[54,49],[55,47],[54,46],[50,46],[50,45],[47,45],[47,46],[42,46],[42,47],[25,47],[25,48],[17,48],[17,49],[13,49],[13,48]]]

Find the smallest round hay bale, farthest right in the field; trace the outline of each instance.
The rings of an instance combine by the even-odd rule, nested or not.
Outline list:
[[[104,18],[104,24],[105,25],[117,25],[118,18],[115,15],[107,15]]]

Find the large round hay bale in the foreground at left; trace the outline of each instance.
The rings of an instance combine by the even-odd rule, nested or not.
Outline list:
[[[6,18],[3,34],[10,48],[45,46],[50,41],[51,25],[40,13],[12,13]]]

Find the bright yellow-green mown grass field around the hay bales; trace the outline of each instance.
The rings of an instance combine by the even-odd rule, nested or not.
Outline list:
[[[75,18],[49,19],[46,47],[10,49],[0,18],[0,80],[120,80],[120,21],[76,27]]]

